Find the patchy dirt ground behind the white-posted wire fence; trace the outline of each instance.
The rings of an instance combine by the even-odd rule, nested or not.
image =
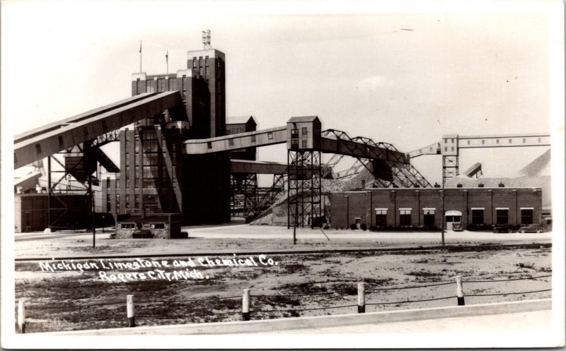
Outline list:
[[[258,244],[249,241],[239,244],[243,247]],[[216,249],[228,245],[218,239],[214,242]],[[104,245],[102,241],[99,243]],[[340,244],[344,246],[346,242]],[[354,241],[350,245],[362,246],[364,243]],[[233,244],[229,247],[233,249]],[[131,250],[131,247],[112,249],[113,252]],[[100,270],[96,269],[45,272],[37,261],[17,262],[16,299],[27,300],[27,332],[41,332],[127,326],[125,302],[129,294],[134,295],[139,326],[241,320],[243,289],[250,289],[251,319],[355,313],[357,282],[362,281],[366,282],[368,312],[455,305],[455,275],[463,278],[466,304],[551,297],[550,291],[516,294],[550,289],[550,277],[511,280],[550,275],[551,248],[545,246],[499,250],[475,247],[472,251],[454,248],[404,253],[284,254],[270,258],[274,260],[271,266],[197,267],[208,279],[129,282],[103,281],[98,273]],[[175,258],[163,259],[173,261]],[[257,256],[255,260],[258,261]],[[124,259],[106,262],[127,261],[134,262]],[[75,260],[74,263],[86,261]],[[173,269],[163,268],[168,272]],[[118,271],[107,270],[107,273]],[[437,285],[443,282],[450,283]],[[423,285],[435,286],[419,287]],[[415,288],[377,290],[397,287]],[[439,299],[443,297],[447,299]],[[427,299],[437,300],[414,302]],[[323,309],[325,307],[337,308]]]

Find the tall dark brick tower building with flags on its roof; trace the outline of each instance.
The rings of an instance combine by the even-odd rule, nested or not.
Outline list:
[[[120,131],[120,177],[103,183],[115,215],[180,213],[185,224],[229,221],[229,153],[183,155],[183,141],[226,133],[225,56],[187,52],[187,69],[132,74],[132,95],[179,90],[184,107]],[[255,150],[254,150],[255,153]]]

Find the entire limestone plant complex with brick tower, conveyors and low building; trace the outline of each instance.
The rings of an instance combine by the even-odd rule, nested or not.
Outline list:
[[[93,184],[100,186],[99,210],[115,218],[117,237],[140,230],[171,237],[180,225],[229,222],[236,213],[288,227],[441,227],[443,217],[465,227],[541,222],[537,184],[439,189],[410,159],[442,155],[443,181],[449,181],[459,175],[460,148],[499,146],[499,138],[514,146],[550,145],[549,135],[489,136],[487,143],[448,135],[402,153],[389,143],[323,131],[316,116],[289,117],[284,126],[257,130],[251,116],[226,118],[226,57],[209,46],[209,38],[203,43],[204,49],[187,52],[186,69],[132,74],[132,97],[16,136],[15,168],[47,157],[49,175],[47,194],[16,194],[16,230],[64,227],[68,223],[57,218],[68,216],[71,207],[85,213],[76,218],[88,223]],[[119,166],[100,149],[110,142],[120,143]],[[257,148],[275,144],[287,145],[287,164],[256,160]],[[323,153],[333,156],[323,162]],[[343,156],[357,162],[334,172]],[[87,189],[81,201],[63,209],[53,202],[62,196],[61,179],[52,180],[52,159],[64,177]],[[478,165],[469,177],[480,174]],[[103,177],[97,166],[112,176]],[[271,174],[272,186],[260,188],[258,174]]]

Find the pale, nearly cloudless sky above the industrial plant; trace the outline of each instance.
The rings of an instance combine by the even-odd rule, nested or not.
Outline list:
[[[392,10],[359,1],[366,8],[338,6],[334,14],[297,1],[288,12],[307,14],[273,14],[267,1],[237,3],[5,2],[3,127],[21,133],[122,100],[139,71],[140,40],[142,71],[165,73],[168,51],[175,72],[209,29],[212,47],[226,54],[227,115],[253,115],[259,129],[316,115],[323,129],[403,152],[443,134],[550,131],[553,42],[548,8],[533,5],[548,1],[522,10],[409,1]],[[482,162],[485,177],[512,177],[545,150],[465,150],[461,171]],[[287,159],[284,145],[259,155]],[[441,181],[441,157],[412,162],[429,181]]]

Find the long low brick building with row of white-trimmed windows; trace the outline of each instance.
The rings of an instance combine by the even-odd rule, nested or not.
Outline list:
[[[329,194],[330,225],[347,228],[541,223],[541,188],[395,188],[341,191]],[[349,216],[349,218],[347,218]]]

